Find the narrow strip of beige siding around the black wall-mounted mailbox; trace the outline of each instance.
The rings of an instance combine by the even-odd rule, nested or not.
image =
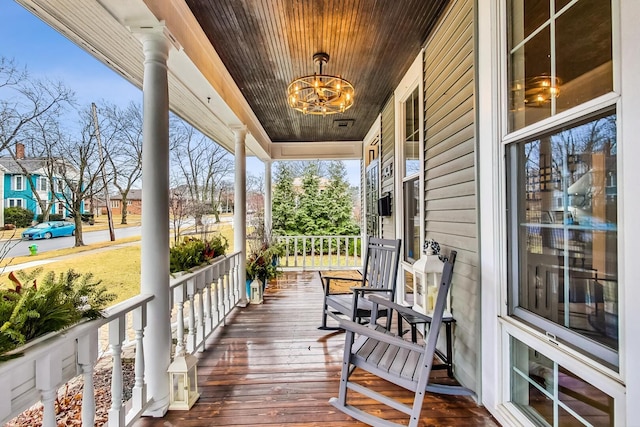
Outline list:
[[[382,224],[382,237],[385,239],[395,239],[395,217],[398,207],[396,206],[397,198],[394,193],[394,181],[395,176],[395,144],[396,144],[396,131],[395,131],[395,109],[394,98],[391,97],[382,108],[382,136],[381,136],[381,154],[380,154],[380,179],[382,180],[382,188],[380,191],[380,197],[387,193],[391,194],[391,216],[380,217]],[[391,175],[384,178],[384,170],[390,167]]]

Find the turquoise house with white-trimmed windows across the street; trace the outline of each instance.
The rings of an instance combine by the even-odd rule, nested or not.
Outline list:
[[[22,144],[18,144],[16,147],[16,160],[10,156],[0,157],[2,200],[5,208],[21,207],[29,209],[33,211],[34,219],[36,219],[38,215],[42,214],[42,209],[33,193],[35,189],[43,200],[49,202],[55,200],[51,205],[50,213],[62,215],[63,217],[69,215],[70,209],[63,195],[65,191],[64,180],[54,175],[54,188],[51,188],[46,170],[47,161],[48,159],[43,157],[25,157]],[[34,189],[29,185],[27,174],[31,175]]]

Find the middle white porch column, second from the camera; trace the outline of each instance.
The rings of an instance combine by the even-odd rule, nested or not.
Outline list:
[[[247,266],[247,156],[245,148],[245,137],[247,128],[245,126],[232,126],[231,130],[235,135],[235,191],[233,210],[233,248],[234,251],[241,251],[240,264],[238,265],[240,276],[240,307],[247,306],[246,266]]]

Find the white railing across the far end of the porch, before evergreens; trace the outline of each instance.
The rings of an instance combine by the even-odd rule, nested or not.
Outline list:
[[[332,270],[362,267],[361,236],[277,236],[285,248],[283,270]]]

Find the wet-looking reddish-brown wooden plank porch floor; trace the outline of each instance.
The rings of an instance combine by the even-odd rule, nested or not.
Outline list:
[[[142,418],[135,426],[364,426],[328,403],[338,392],[344,334],[317,329],[321,304],[318,273],[285,273],[267,289],[264,304],[235,310],[198,355],[201,396],[194,407]],[[446,371],[432,375],[446,377]],[[393,384],[371,381],[412,399]],[[387,411],[370,402],[374,410]],[[403,417],[388,411],[398,422]],[[498,425],[484,408],[459,396],[427,393],[422,415],[425,426]]]

